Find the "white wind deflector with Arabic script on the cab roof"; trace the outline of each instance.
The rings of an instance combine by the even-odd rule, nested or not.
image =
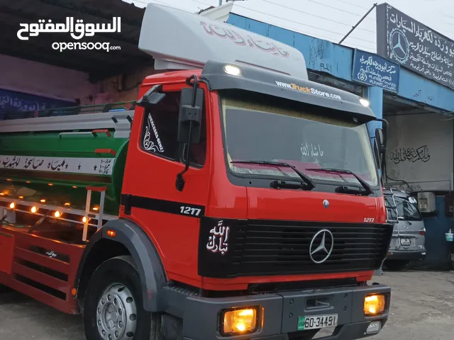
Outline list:
[[[218,60],[308,79],[304,57],[294,47],[168,6],[148,4],[138,47],[155,58],[155,69],[203,68]]]

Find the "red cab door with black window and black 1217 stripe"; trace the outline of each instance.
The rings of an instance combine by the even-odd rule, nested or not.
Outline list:
[[[177,174],[184,169],[187,147],[177,141],[183,86],[187,87],[162,86],[160,93],[165,96],[158,103],[136,109],[121,207],[121,217],[135,221],[148,233],[169,278],[180,280],[182,276],[194,278],[196,273],[199,223],[208,198],[211,160],[207,128],[210,108],[204,99],[200,143],[190,147],[191,164],[183,175],[184,188],[177,190]],[[199,84],[199,88],[204,90],[205,98],[206,87]]]

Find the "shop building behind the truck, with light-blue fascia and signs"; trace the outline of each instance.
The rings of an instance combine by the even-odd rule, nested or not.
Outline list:
[[[0,38],[0,61],[6,70],[0,74],[0,115],[75,105],[77,99],[82,105],[134,101],[140,81],[155,72],[153,60],[137,47],[143,8],[114,0],[102,9],[94,4],[68,7],[67,1],[39,2],[42,4],[38,6],[36,1],[23,1],[21,9],[5,5],[0,13],[0,29],[6,33]],[[377,7],[380,55],[235,12],[234,3],[209,8],[200,13],[201,21],[204,16],[224,21],[297,48],[305,57],[311,80],[364,96],[377,118],[388,121],[384,179],[419,196],[421,202],[428,198],[424,211],[427,259],[432,263],[447,261],[444,234],[453,223],[454,43],[387,4]],[[19,40],[20,24],[37,23],[35,13],[54,22],[73,17],[84,22],[112,23],[114,17],[121,17],[121,32],[84,37],[87,42],[109,42],[119,49],[56,52],[51,47],[53,42],[74,42],[61,33]],[[216,28],[213,32],[228,34]],[[253,43],[272,52],[272,47],[260,45],[260,41]],[[429,53],[432,57],[422,57],[421,49],[423,55]],[[377,125],[381,123],[371,124],[371,131]]]

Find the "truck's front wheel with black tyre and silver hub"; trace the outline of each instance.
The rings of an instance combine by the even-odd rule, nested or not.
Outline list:
[[[101,263],[85,294],[87,340],[150,339],[151,319],[152,313],[143,309],[140,277],[131,256]]]

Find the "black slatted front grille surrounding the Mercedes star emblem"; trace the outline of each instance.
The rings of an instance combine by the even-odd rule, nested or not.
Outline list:
[[[231,258],[230,276],[267,276],[309,273],[369,271],[380,268],[387,254],[392,225],[340,224],[309,222],[248,221],[239,224]],[[323,263],[314,263],[309,254],[311,240],[322,229],[333,235],[331,255]],[[321,244],[322,232],[314,241]],[[331,248],[329,233],[326,249]],[[312,257],[321,261],[323,249]]]

